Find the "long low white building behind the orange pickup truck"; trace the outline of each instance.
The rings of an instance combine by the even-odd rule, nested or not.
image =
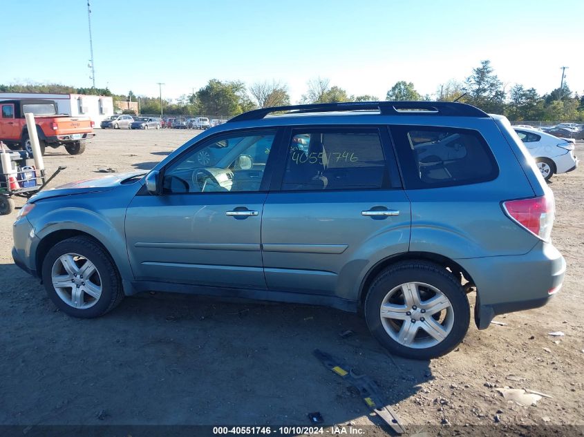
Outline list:
[[[48,94],[48,93],[0,93],[3,99],[47,99],[57,103],[60,114],[89,117],[100,127],[100,122],[113,115],[113,99],[101,95]]]

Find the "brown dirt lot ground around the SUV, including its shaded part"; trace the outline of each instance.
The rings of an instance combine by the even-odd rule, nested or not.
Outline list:
[[[197,133],[97,130],[83,155],[47,150],[49,172],[67,166],[51,185],[100,177],[97,168],[151,168]],[[584,157],[583,143],[576,154]],[[583,167],[550,186],[553,240],[567,261],[561,293],[541,309],[497,317],[505,326],[471,324],[459,349],[431,362],[388,356],[358,315],[295,304],[144,293],[102,318],[70,318],[13,264],[16,213],[0,216],[0,425],[309,426],[307,414],[319,411],[326,425],[385,434],[355,390],[314,358],[318,348],[374,378],[411,434],[532,435],[547,434],[543,425],[578,425],[561,434],[581,435]],[[341,338],[347,330],[355,334]],[[549,397],[522,407],[496,390],[505,386]]]

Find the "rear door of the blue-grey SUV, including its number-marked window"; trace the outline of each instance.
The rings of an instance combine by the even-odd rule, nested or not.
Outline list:
[[[288,128],[284,138],[263,210],[267,287],[354,300],[363,271],[408,251],[410,203],[387,128]]]

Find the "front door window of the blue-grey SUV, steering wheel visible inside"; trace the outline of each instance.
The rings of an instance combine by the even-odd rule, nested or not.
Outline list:
[[[259,191],[274,130],[214,137],[191,148],[164,172],[164,193]]]

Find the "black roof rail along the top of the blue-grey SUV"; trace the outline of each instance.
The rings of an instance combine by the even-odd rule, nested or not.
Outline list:
[[[455,117],[489,117],[479,108],[454,101],[347,101],[308,105],[274,106],[247,111],[229,122],[260,120],[270,113],[289,111],[288,114],[328,113],[351,110],[379,110],[381,115],[450,115]],[[287,115],[288,115],[287,114]]]

